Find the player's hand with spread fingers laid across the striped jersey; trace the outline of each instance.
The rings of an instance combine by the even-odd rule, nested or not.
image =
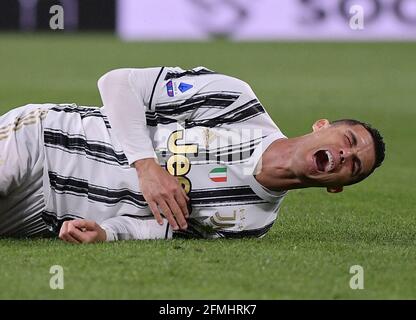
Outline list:
[[[160,209],[174,230],[186,229],[189,198],[177,178],[161,168],[153,158],[138,160],[134,165],[140,189],[157,222],[163,224]]]

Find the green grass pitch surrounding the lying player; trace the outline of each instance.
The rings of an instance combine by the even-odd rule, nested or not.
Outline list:
[[[288,136],[322,117],[385,135],[383,168],[343,194],[292,191],[263,239],[74,246],[0,240],[2,299],[415,299],[416,43],[122,43],[110,35],[0,35],[0,111],[99,105],[117,67],[204,65],[249,82]],[[49,269],[64,268],[64,290]],[[364,289],[349,287],[364,268]]]

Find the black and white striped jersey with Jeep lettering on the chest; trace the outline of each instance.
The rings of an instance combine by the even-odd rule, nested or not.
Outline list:
[[[142,90],[152,151],[191,199],[188,230],[173,236],[263,236],[285,193],[265,189],[254,174],[266,148],[285,136],[251,88],[203,67],[134,70],[152,78]],[[52,227],[86,218],[117,233],[109,223],[114,218],[152,218],[128,147],[107,112],[107,106],[68,104],[48,112],[44,219]]]

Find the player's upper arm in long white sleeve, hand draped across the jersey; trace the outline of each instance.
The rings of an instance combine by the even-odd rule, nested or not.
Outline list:
[[[136,168],[140,189],[159,224],[162,215],[174,229],[187,227],[186,193],[178,180],[162,169],[146,125],[146,107],[152,99],[161,68],[117,69],[103,75],[98,88],[109,122],[130,164]]]

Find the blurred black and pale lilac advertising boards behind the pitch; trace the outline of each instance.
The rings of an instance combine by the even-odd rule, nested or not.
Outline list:
[[[416,0],[2,0],[0,31],[116,32],[123,40],[415,40]]]

